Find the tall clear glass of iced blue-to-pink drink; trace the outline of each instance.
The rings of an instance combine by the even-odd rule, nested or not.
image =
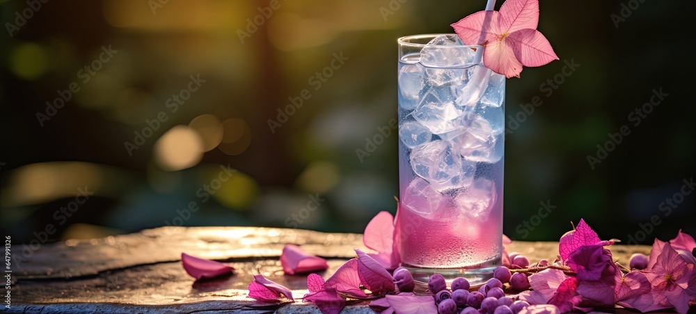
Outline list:
[[[398,43],[402,265],[418,281],[487,280],[502,251],[505,77],[454,34]]]

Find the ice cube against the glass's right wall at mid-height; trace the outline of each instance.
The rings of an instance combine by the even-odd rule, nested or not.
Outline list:
[[[452,146],[470,162],[493,164],[503,158],[503,136],[501,133],[495,134],[486,119],[475,116],[473,123],[452,139]]]

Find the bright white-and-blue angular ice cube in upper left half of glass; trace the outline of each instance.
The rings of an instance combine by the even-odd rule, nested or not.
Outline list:
[[[411,114],[430,132],[441,134],[457,127],[457,118],[461,115],[461,111],[452,102],[450,88],[431,87],[421,95],[416,110]]]

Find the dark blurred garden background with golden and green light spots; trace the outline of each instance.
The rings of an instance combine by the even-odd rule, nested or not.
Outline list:
[[[560,61],[507,81],[505,233],[557,240],[584,218],[624,242],[696,235],[685,183],[696,172],[689,10],[656,0],[540,6],[539,30]],[[361,232],[377,212],[395,212],[397,136],[374,149],[367,141],[396,118],[396,38],[450,33],[483,7],[0,1],[3,233],[28,242],[52,224],[52,242],[167,224]],[[109,47],[117,52],[102,54]],[[347,60],[326,70],[337,55]],[[195,89],[191,76],[205,82],[183,92]],[[47,108],[71,84],[79,91]],[[669,95],[635,125],[631,113],[660,88]],[[304,89],[310,97],[279,117]],[[541,106],[524,113],[533,97]],[[622,125],[631,133],[607,146]],[[611,150],[592,168],[597,145]],[[302,212],[308,202],[318,209]],[[535,218],[540,202],[555,206],[548,217]]]

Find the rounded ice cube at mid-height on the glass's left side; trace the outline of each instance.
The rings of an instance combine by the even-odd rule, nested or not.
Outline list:
[[[461,171],[461,158],[448,141],[436,140],[411,150],[411,168],[416,175],[430,182],[444,183]]]

